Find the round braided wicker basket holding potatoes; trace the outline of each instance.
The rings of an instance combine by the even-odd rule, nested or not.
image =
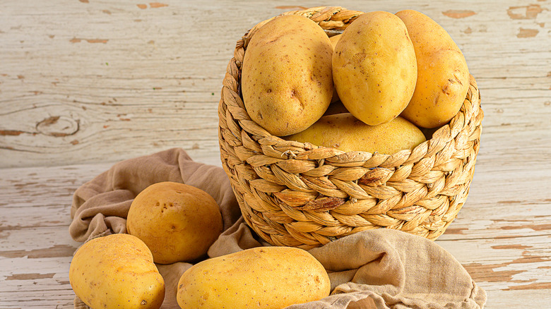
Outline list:
[[[361,13],[318,7],[284,15],[311,18],[331,35]],[[461,111],[413,150],[345,153],[283,140],[251,121],[240,94],[244,53],[263,23],[237,42],[218,107],[220,157],[247,224],[275,246],[304,249],[383,227],[433,240],[444,233],[467,198],[480,145],[474,78]]]

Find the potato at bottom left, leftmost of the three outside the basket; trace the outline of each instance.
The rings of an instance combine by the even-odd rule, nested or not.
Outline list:
[[[129,234],[84,243],[71,261],[69,282],[90,308],[160,308],[165,298],[151,252]]]

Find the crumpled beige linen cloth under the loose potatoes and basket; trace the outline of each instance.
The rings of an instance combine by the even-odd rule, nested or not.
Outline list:
[[[78,188],[71,207],[71,236],[85,242],[125,233],[126,214],[134,197],[160,181],[201,188],[220,205],[224,232],[209,249],[209,257],[269,246],[244,223],[223,169],[194,162],[178,148],[119,162]],[[486,302],[485,291],[451,254],[432,241],[402,231],[363,231],[309,253],[326,268],[331,296],[288,308],[474,309]],[[177,283],[189,267],[185,262],[158,265],[166,285],[162,308],[179,308]],[[75,308],[88,307],[75,298]]]

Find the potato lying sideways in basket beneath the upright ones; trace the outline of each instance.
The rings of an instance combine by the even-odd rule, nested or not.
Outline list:
[[[343,152],[393,154],[399,150],[413,149],[425,141],[425,135],[400,116],[387,123],[369,126],[349,113],[323,116],[313,126],[287,136],[285,140],[333,147]]]

